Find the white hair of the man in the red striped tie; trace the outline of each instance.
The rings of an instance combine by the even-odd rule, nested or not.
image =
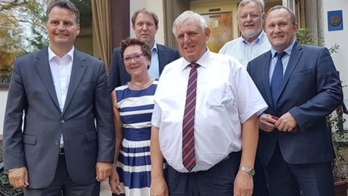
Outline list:
[[[194,12],[194,11],[184,11],[182,12],[174,21],[173,23],[173,34],[175,36],[176,28],[180,26],[182,23],[184,23],[186,20],[191,20],[198,24],[202,31],[204,32],[206,28],[208,27],[206,20],[201,16],[200,14]]]

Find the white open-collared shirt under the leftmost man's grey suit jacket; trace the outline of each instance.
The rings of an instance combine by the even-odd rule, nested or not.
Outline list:
[[[60,110],[63,111],[66,95],[70,82],[71,68],[73,67],[74,47],[62,58],[57,56],[48,47],[49,68],[51,70],[55,93],[58,98]],[[60,137],[60,147],[64,147],[63,135]]]

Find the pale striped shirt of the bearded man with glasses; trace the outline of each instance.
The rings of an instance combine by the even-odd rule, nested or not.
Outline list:
[[[218,53],[233,56],[246,68],[249,61],[268,51],[270,48],[271,45],[267,40],[266,34],[261,31],[259,37],[252,43],[248,43],[243,37],[239,37],[223,45]]]

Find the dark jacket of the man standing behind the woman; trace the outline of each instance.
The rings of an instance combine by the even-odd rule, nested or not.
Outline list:
[[[161,75],[164,67],[168,63],[180,58],[180,55],[176,49],[172,49],[160,44],[157,44],[157,51]],[[116,48],[112,54],[108,76],[110,92],[112,92],[116,87],[124,85],[129,81],[131,81],[131,75],[126,71],[125,64],[121,58],[120,48]]]

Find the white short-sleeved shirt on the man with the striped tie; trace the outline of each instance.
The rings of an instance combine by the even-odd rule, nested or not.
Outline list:
[[[240,151],[242,124],[267,108],[246,69],[233,57],[207,50],[196,63],[200,65],[194,132],[196,166],[191,172],[208,170],[232,151]],[[151,121],[159,127],[164,158],[179,172],[188,172],[182,164],[188,64],[181,57],[165,67],[155,93]]]

